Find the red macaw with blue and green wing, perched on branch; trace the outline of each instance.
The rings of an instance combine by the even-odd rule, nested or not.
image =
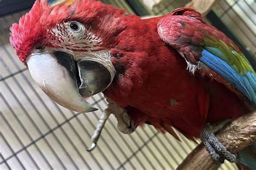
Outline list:
[[[95,111],[84,98],[103,92],[130,116],[129,132],[144,123],[170,133],[174,127],[200,137],[218,162],[234,162],[207,125],[256,108],[256,74],[245,55],[193,9],[150,19],[124,12],[90,0],[37,0],[11,26],[10,42],[63,107]]]

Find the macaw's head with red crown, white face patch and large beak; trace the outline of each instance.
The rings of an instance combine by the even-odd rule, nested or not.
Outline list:
[[[65,108],[97,110],[84,100],[110,86],[116,70],[109,48],[122,31],[124,10],[83,0],[50,6],[36,1],[11,26],[11,45],[32,79]]]

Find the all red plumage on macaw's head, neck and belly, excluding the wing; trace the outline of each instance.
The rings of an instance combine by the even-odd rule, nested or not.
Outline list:
[[[161,17],[142,20],[123,12],[94,1],[53,8],[37,1],[19,24],[12,26],[10,41],[25,63],[38,42],[62,46],[47,39],[48,30],[56,24],[77,20],[91,26],[102,38],[102,48],[112,54],[117,70],[104,94],[126,108],[138,124],[150,123],[160,130],[170,125],[192,138],[199,137],[207,122],[247,112],[239,97],[223,84],[186,70],[184,58],[159,37]]]

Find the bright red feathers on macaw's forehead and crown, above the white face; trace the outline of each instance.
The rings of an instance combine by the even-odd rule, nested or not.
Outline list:
[[[25,63],[33,47],[38,43],[45,43],[47,31],[56,24],[77,20],[90,25],[107,41],[117,31],[122,30],[123,26],[117,19],[122,13],[124,10],[93,0],[77,1],[69,6],[61,4],[50,6],[46,2],[37,0],[32,9],[19,20],[19,24],[15,23],[11,26],[10,42],[18,58]]]

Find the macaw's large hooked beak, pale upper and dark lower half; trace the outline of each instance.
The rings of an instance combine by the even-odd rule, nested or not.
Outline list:
[[[35,50],[26,62],[32,79],[52,100],[73,111],[91,112],[98,109],[84,97],[105,90],[113,73],[90,59],[75,60],[63,51]]]

